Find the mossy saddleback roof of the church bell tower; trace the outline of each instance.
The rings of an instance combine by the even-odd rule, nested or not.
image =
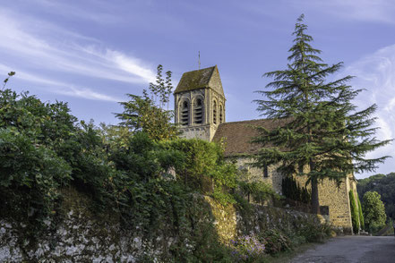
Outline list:
[[[220,95],[224,95],[217,65],[193,72],[185,72],[174,93],[202,88],[214,89]]]

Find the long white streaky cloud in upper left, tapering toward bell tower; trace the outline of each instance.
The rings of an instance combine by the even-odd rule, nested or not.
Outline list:
[[[72,72],[93,78],[129,83],[153,81],[155,73],[141,60],[98,45],[67,30],[39,21],[39,30],[30,29],[29,19],[0,12],[1,53],[13,55],[25,64],[57,72]],[[39,32],[37,32],[39,31]],[[53,38],[52,36],[56,36]],[[95,50],[95,52],[92,52]],[[102,51],[100,51],[102,50]]]

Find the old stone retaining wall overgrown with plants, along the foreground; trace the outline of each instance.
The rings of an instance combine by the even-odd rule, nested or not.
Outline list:
[[[171,247],[177,242],[183,242],[186,250],[193,250],[188,234],[195,235],[193,225],[196,227],[199,222],[213,224],[219,241],[225,245],[241,234],[273,228],[288,233],[306,224],[322,224],[317,216],[290,209],[252,205],[247,213],[231,205],[221,206],[209,197],[196,199],[196,205],[206,206],[209,214],[200,214],[199,218],[195,215],[194,223],[179,233],[163,222],[147,237],[139,227],[122,227],[116,215],[92,214],[88,209],[90,199],[72,191],[65,196],[64,219],[56,225],[46,221],[47,231],[36,242],[26,238],[27,225],[0,219],[0,262],[138,262],[144,258],[168,262],[172,259]]]

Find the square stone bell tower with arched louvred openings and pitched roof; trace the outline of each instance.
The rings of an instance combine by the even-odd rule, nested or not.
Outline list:
[[[175,118],[181,137],[212,140],[225,123],[225,95],[217,65],[185,72],[174,92]]]

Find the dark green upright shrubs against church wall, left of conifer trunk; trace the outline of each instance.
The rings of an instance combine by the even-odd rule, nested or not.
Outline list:
[[[282,193],[288,199],[309,204],[312,199],[311,192],[305,187],[300,187],[299,183],[293,176],[285,176],[281,183]]]

